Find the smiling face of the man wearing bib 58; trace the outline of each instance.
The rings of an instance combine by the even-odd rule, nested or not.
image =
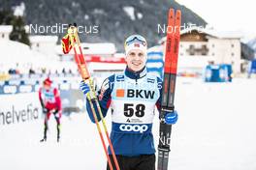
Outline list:
[[[130,70],[141,71],[144,68],[146,56],[140,49],[132,49],[126,55],[126,63]]]

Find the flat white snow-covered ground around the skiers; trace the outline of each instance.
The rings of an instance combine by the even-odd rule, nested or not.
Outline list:
[[[178,77],[179,120],[173,127],[169,169],[255,170],[255,87],[256,80],[206,84]],[[107,122],[110,126],[110,114]],[[155,123],[157,145],[157,118]],[[0,169],[106,169],[97,129],[86,114],[63,117],[61,143],[55,142],[53,119],[47,143],[39,143],[42,135],[43,120],[0,125]]]

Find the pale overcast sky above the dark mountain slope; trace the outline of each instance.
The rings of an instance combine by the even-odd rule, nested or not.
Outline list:
[[[256,2],[253,0],[176,0],[202,16],[219,31],[240,31],[256,38]]]

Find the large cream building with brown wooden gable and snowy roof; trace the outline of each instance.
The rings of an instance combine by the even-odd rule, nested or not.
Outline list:
[[[240,35],[220,35],[197,27],[180,33],[179,55],[197,57],[214,64],[231,64],[240,72]]]

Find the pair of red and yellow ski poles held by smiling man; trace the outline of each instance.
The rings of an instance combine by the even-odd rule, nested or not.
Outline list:
[[[78,29],[77,29],[76,24],[74,26],[72,26],[72,25],[70,26],[69,31],[68,31],[68,35],[65,36],[64,38],[65,38],[65,40],[68,40],[68,43],[69,43],[69,44],[67,44],[68,47],[71,46],[71,48],[74,49],[74,52],[75,52],[74,57],[75,57],[75,61],[76,61],[77,65],[78,65],[80,75],[81,75],[83,81],[89,85],[90,91],[92,92],[92,97],[88,93],[86,98],[89,101],[89,105],[90,105],[90,108],[92,110],[93,118],[95,120],[97,129],[98,129],[98,132],[99,132],[99,135],[100,135],[100,138],[101,138],[101,142],[102,142],[102,145],[103,145],[103,148],[104,148],[104,152],[105,152],[105,155],[107,156],[107,159],[108,159],[109,167],[110,167],[111,170],[113,170],[112,160],[111,160],[111,158],[108,154],[107,145],[106,145],[106,142],[105,142],[104,137],[103,137],[103,132],[102,132],[102,129],[100,127],[100,124],[99,124],[99,121],[98,121],[98,118],[97,118],[97,114],[96,114],[96,110],[93,106],[93,102],[96,103],[96,109],[97,109],[97,112],[99,113],[100,118],[102,120],[103,128],[105,130],[105,135],[106,135],[106,137],[108,139],[108,142],[109,142],[109,145],[110,145],[110,149],[111,149],[111,152],[112,152],[112,158],[113,158],[113,162],[114,162],[114,166],[115,166],[114,169],[120,170],[118,162],[117,162],[117,158],[116,158],[116,156],[114,154],[114,151],[113,151],[112,141],[111,141],[111,138],[110,138],[107,126],[106,126],[106,122],[105,122],[104,116],[103,116],[101,108],[100,108],[99,100],[97,99],[95,88],[93,87],[93,81],[92,81],[92,78],[90,77],[90,73],[87,69],[86,62],[83,58],[84,56],[82,54],[82,50],[81,50],[81,46],[80,46],[80,38],[79,38]],[[62,43],[67,43],[67,41],[66,42],[62,41]],[[65,45],[64,45],[64,47],[65,47]],[[71,48],[69,48],[69,49],[71,49]],[[78,48],[79,48],[80,53],[78,53]],[[66,51],[69,51],[69,50],[66,50]]]

